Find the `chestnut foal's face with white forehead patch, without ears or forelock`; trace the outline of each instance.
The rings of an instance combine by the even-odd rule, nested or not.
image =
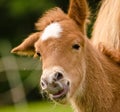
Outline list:
[[[40,84],[51,99],[63,103],[82,89],[84,39],[72,20],[46,26],[35,43],[35,51],[43,64]]]

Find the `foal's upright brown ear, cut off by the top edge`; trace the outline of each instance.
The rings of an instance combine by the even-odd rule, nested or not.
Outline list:
[[[85,32],[88,15],[89,11],[86,0],[70,0],[68,16],[76,22],[83,33]]]

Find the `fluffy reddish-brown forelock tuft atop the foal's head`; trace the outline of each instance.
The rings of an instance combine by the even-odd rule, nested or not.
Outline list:
[[[44,30],[44,28],[53,23],[53,22],[60,22],[69,17],[58,7],[52,8],[51,10],[47,11],[42,18],[38,20],[35,24],[37,30]]]

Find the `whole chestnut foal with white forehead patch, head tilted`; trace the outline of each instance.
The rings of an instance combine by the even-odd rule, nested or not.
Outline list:
[[[71,0],[68,14],[53,8],[12,53],[42,58],[41,87],[75,112],[120,112],[120,68],[86,38],[88,7]]]

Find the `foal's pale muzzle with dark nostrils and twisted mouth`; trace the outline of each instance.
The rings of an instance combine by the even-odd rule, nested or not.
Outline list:
[[[42,90],[47,92],[54,100],[63,99],[69,91],[69,81],[65,73],[59,69],[46,69],[41,76]]]

